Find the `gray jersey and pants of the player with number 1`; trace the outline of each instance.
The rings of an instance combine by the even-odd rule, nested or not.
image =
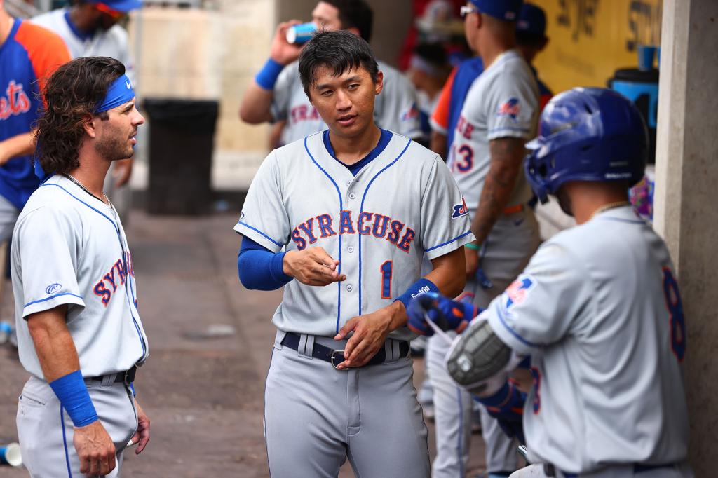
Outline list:
[[[278,476],[335,477],[347,455],[358,476],[429,477],[411,358],[391,357],[397,339],[415,335],[391,332],[388,362],[346,372],[303,351],[317,341],[343,350],[346,340],[332,339],[343,324],[403,294],[419,279],[424,255],[444,256],[472,240],[468,211],[442,159],[405,136],[383,131],[356,176],[332,156],[328,137],[316,133],[273,151],[235,228],[274,252],[320,246],[347,276],[284,287],[266,380],[270,467]],[[302,334],[302,351],[281,346],[285,332]]]

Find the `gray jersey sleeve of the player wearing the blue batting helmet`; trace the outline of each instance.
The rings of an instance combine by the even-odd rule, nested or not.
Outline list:
[[[563,246],[547,243],[485,314],[506,345],[530,355],[568,333],[590,306],[591,289],[578,259]]]

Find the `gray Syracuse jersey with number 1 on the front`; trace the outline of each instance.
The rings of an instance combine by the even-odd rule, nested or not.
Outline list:
[[[352,317],[392,303],[420,277],[421,258],[472,240],[461,193],[444,161],[391,135],[356,176],[316,133],[266,157],[235,230],[278,252],[321,246],[340,261],[343,282],[289,282],[272,322],[284,332],[332,337]],[[408,328],[390,337],[411,339]]]

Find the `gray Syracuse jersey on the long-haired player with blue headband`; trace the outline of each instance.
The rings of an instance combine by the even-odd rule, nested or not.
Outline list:
[[[67,304],[84,377],[129,370],[147,357],[134,268],[113,208],[62,176],[40,185],[17,220],[11,250],[19,356],[43,379],[27,317]]]

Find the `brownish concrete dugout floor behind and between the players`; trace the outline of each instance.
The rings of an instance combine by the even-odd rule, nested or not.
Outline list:
[[[157,217],[133,211],[127,230],[139,311],[150,357],[136,378],[137,399],[151,418],[151,442],[127,453],[123,476],[269,477],[262,432],[263,390],[281,291],[247,291],[236,276],[236,215]],[[0,319],[14,317],[11,287]],[[232,327],[236,333],[210,333]],[[414,382],[423,376],[414,362]],[[27,372],[0,345],[0,444],[17,441],[17,395]],[[434,453],[433,427],[429,424]],[[472,439],[467,477],[483,471],[483,443]],[[27,477],[0,467],[0,476]],[[348,464],[340,477],[353,477]]]

